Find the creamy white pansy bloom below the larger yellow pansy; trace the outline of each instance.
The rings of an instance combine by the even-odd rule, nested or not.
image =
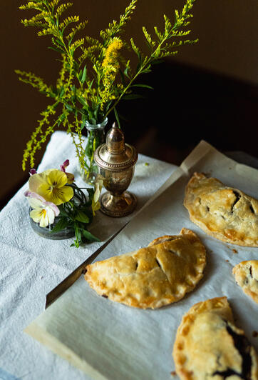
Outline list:
[[[33,192],[31,193],[31,191],[26,191],[24,195],[27,197],[29,205],[33,209],[30,212],[31,219],[39,223],[41,227],[53,224],[55,216],[58,216],[60,213],[58,206],[52,202],[45,201],[42,196]]]

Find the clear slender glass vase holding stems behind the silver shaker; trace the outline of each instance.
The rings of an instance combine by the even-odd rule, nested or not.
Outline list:
[[[81,167],[80,172],[83,178],[83,181],[86,184],[94,184],[96,176],[98,174],[98,166],[94,161],[94,151],[101,144],[105,143],[105,126],[108,124],[108,118],[100,124],[90,124],[86,121],[87,129],[87,144],[85,148],[85,161],[84,167]]]

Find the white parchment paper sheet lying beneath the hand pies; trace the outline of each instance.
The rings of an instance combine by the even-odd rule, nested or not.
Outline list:
[[[258,171],[237,164],[201,141],[172,174],[167,189],[97,258],[103,260],[147,246],[158,236],[178,234],[182,227],[192,229],[207,249],[205,276],[194,291],[162,309],[140,310],[98,296],[81,277],[26,332],[93,379],[171,379],[170,373],[175,371],[171,353],[182,315],[196,302],[227,296],[237,325],[257,349],[258,339],[252,331],[258,329],[258,306],[237,286],[232,267],[243,260],[258,259],[258,249],[225,244],[190,221],[182,202],[194,171],[215,176],[258,198]]]

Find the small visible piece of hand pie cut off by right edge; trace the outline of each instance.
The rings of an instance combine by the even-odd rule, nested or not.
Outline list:
[[[242,261],[232,269],[237,284],[258,304],[258,260]]]

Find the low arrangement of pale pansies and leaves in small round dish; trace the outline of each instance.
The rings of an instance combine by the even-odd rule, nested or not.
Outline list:
[[[25,196],[29,201],[33,229],[48,239],[65,239],[76,236],[72,246],[99,241],[88,231],[93,216],[100,208],[101,181],[96,181],[95,189],[82,189],[74,183],[74,176],[66,172],[69,161],[60,169],[48,169],[36,173],[31,169],[29,190]],[[61,234],[60,234],[61,232]]]

